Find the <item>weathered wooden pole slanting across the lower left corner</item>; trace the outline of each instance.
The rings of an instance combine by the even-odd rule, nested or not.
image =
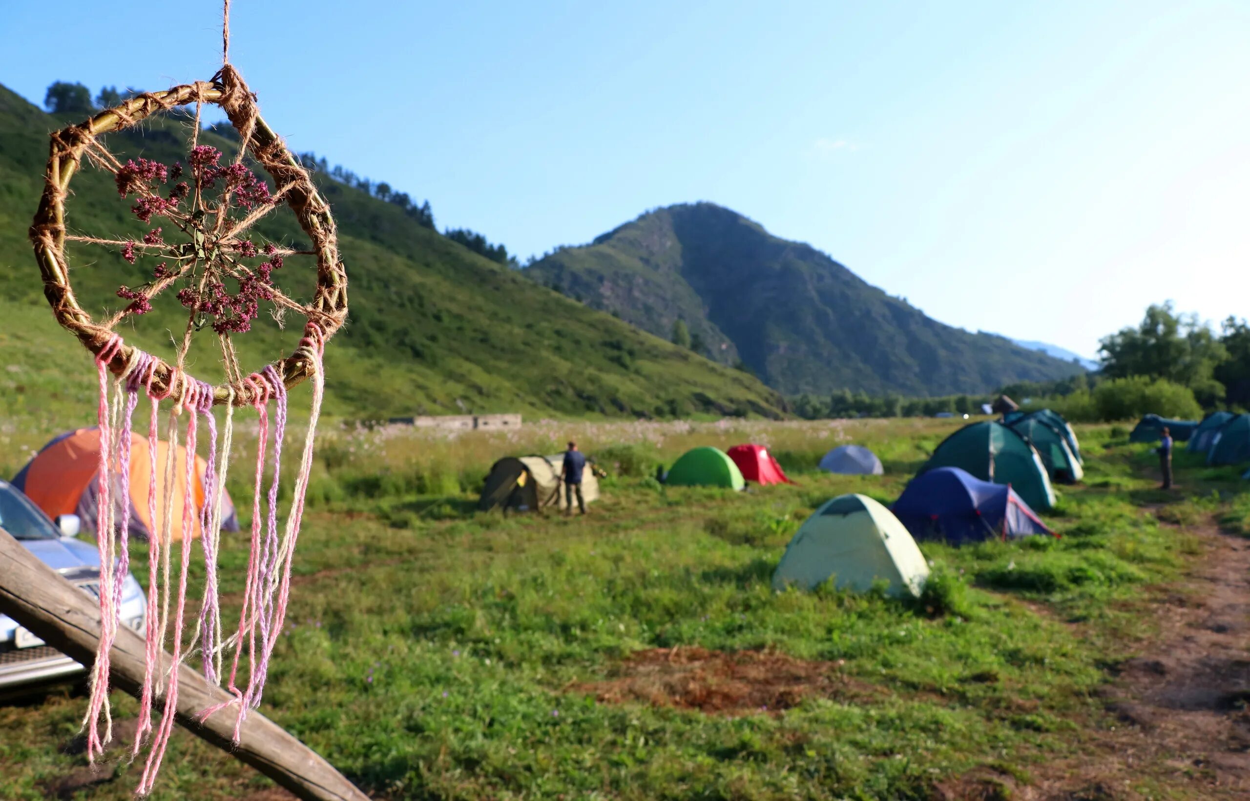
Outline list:
[[[86,595],[0,529],[0,612],[66,656],[90,665],[100,641],[100,609]],[[125,626],[110,655],[112,686],[139,696],[144,685],[144,640]],[[164,670],[172,660],[161,651]],[[178,722],[196,737],[251,765],[308,801],[369,801],[342,774],[306,745],[259,712],[248,715],[232,741],[235,715],[222,710],[206,721],[198,715],[232,696],[182,665],[178,689]]]

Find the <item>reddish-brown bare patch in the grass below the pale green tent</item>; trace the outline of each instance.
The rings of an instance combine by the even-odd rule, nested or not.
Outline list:
[[[709,715],[776,715],[810,696],[862,700],[875,695],[871,685],[841,675],[841,665],[774,651],[650,649],[631,655],[610,679],[570,689],[605,704],[635,701]]]

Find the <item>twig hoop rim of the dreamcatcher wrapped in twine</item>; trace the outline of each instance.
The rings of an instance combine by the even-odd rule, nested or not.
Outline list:
[[[225,111],[240,134],[241,146],[246,147],[251,157],[272,177],[276,185],[275,197],[286,201],[295,212],[300,227],[312,242],[312,250],[309,252],[316,256],[316,294],[311,304],[295,305],[308,319],[304,340],[290,356],[272,365],[282,382],[288,387],[294,386],[308,379],[315,369],[308,342],[324,346],[346,321],[348,274],[339,260],[338,235],[329,204],[318,194],[308,171],[295,160],[285,142],[260,117],[255,95],[229,64],[211,81],[196,81],[166,91],[136,95],[82,124],[71,125],[51,135],[44,194],[30,227],[35,259],[42,274],[44,295],[58,322],[78,336],[88,350],[99,356],[110,349],[116,319],[109,324],[92,320],[91,315],[79,305],[70,284],[69,260],[65,256],[65,197],[69,194],[70,179],[81,165],[84,155],[91,155],[89,149],[98,136],[125,130],[152,114],[192,102],[212,104]],[[238,234],[238,230],[231,232]],[[160,289],[164,289],[164,285],[155,287],[151,295]],[[112,350],[115,352],[108,361],[109,370],[114,375],[121,375],[131,360],[134,347],[124,344]],[[258,369],[254,372],[260,371]],[[256,401],[256,385],[246,381],[245,375],[239,370],[230,371],[228,365],[228,381],[212,387],[212,404],[252,405]],[[180,367],[171,366],[156,356],[152,357],[150,376],[149,386],[165,395],[184,397],[195,386],[195,380]]]

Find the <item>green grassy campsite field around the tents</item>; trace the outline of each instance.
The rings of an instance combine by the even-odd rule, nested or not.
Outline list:
[[[956,425],[331,431],[264,711],[389,799],[926,799],[935,782],[986,766],[1026,784],[1074,754],[1080,732],[1114,724],[1092,694],[1150,635],[1148,590],[1200,556],[1194,527],[1250,529],[1250,502],[1235,470],[1185,454],[1188,490],[1158,492],[1152,457],[1125,429],[1082,427],[1086,481],[1061,487],[1048,519],[1062,539],[925,545],[938,580],[920,602],[770,589],[815,506],[842,492],[891,501]],[[15,452],[41,435],[5,436]],[[570,436],[611,474],[589,517],[472,511],[494,459],[555,452]],[[742,441],[768,445],[799,484],[732,495],[650,477],[688,447]],[[816,472],[842,442],[872,447],[886,475]],[[241,595],[244,547],[241,535],[222,547],[228,606]],[[141,564],[136,572],[146,579]],[[745,667],[682,672],[709,656],[700,649],[808,680],[781,691],[775,675]],[[128,699],[114,701],[132,715]],[[65,746],[84,705],[58,689],[0,706],[0,797],[130,796],[138,766],[116,754],[74,795],[66,777],[85,782],[85,759]],[[269,797],[266,787],[179,732],[155,797]],[[1136,790],[1188,797],[1150,770]]]

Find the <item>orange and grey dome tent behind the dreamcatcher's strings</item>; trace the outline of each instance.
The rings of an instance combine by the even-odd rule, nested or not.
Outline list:
[[[169,442],[156,444],[156,519],[165,515],[165,465],[169,460]],[[26,466],[14,477],[12,485],[26,494],[49,517],[59,515],[78,515],[82,529],[95,531],[99,502],[100,431],[99,429],[78,429],[68,431],[41,447]],[[172,539],[182,539],[182,509],[186,499],[186,449],[178,447],[174,459],[174,496],[170,520]],[[204,471],[206,465],[200,456],[195,457],[195,486],[191,487],[192,502],[199,512],[204,509]],[[152,521],[148,509],[148,486],[151,470],[148,451],[148,437],[132,434],[130,441],[130,497],[121,497],[120,482],[114,479],[112,496],[118,504],[130,505],[130,534],[148,539]],[[122,509],[116,510],[115,519],[121,521]],[[199,536],[199,526],[191,536]],[[221,499],[221,529],[238,531],[239,517],[235,514],[230,496]]]

